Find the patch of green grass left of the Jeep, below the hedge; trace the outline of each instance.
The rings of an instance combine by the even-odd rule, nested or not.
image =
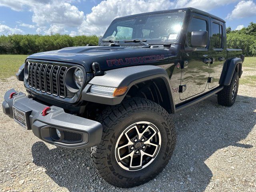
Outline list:
[[[14,76],[27,55],[0,55],[0,80]]]

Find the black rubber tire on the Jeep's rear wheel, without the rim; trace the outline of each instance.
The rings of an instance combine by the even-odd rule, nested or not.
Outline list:
[[[233,88],[236,84],[236,90],[234,96],[232,95]],[[234,72],[230,85],[224,86],[224,88],[218,92],[218,104],[222,106],[232,106],[236,100],[239,86],[239,76],[237,72]]]

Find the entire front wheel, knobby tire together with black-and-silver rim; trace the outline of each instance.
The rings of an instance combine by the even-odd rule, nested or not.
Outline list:
[[[102,141],[91,148],[100,176],[118,187],[143,184],[170,160],[176,133],[172,115],[158,104],[130,98],[104,110]]]

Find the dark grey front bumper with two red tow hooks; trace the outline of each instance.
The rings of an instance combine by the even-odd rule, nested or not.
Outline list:
[[[88,148],[100,143],[102,124],[99,122],[68,114],[63,108],[50,106],[47,115],[42,111],[48,107],[40,102],[26,97],[22,92],[16,92],[12,98],[8,90],[4,95],[2,108],[4,114],[14,118],[13,106],[26,112],[27,129],[32,129],[35,136],[56,146],[72,149]],[[61,136],[56,133],[58,129]]]

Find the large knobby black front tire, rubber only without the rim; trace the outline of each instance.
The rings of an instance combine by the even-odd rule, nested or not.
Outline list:
[[[91,158],[106,182],[118,187],[138,186],[152,180],[168,164],[176,143],[176,131],[172,115],[158,104],[143,98],[125,99],[121,104],[106,108],[98,121],[103,126],[102,140],[91,148]],[[151,122],[158,128],[162,144],[148,166],[125,170],[116,160],[116,142],[128,126],[140,121]]]

